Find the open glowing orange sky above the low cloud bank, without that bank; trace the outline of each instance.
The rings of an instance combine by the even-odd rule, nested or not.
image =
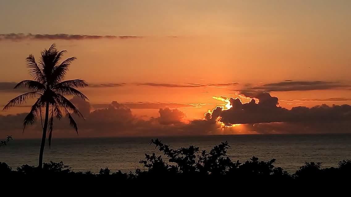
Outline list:
[[[39,57],[41,50],[56,43],[59,50],[68,51],[65,57],[78,57],[67,79],[82,78],[93,86],[125,83],[83,89],[90,104],[201,104],[177,107],[186,114],[184,121],[204,118],[221,103],[212,96],[232,97],[257,87],[278,97],[280,106],[287,109],[351,104],[350,1],[27,4],[0,3],[1,83],[30,78],[25,58]],[[47,8],[53,6],[61,11],[49,12]],[[6,38],[11,33],[139,37]],[[292,84],[284,85],[285,89],[276,84],[285,80],[321,84],[307,84],[305,89],[298,85],[290,91]],[[276,85],[267,85],[271,83]],[[2,106],[18,94],[5,89],[0,93]],[[28,109],[14,108],[0,115]],[[131,110],[144,119],[159,116],[157,108]]]

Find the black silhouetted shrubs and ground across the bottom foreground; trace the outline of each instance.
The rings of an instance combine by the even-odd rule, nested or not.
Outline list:
[[[227,142],[213,147],[210,152],[200,151],[199,147],[194,146],[171,149],[158,139],[151,140],[150,145],[154,145],[163,155],[145,154],[145,160],[140,161],[144,168],[136,169],[134,173],[111,172],[108,168],[100,169],[98,174],[91,171],[74,172],[63,162],[52,161],[44,163],[42,169],[26,164],[13,170],[0,162],[0,178],[14,181],[12,183],[26,183],[27,186],[32,184],[34,188],[17,191],[27,194],[35,192],[40,185],[43,191],[50,190],[54,194],[151,196],[156,191],[174,195],[179,192],[183,195],[204,195],[219,191],[223,194],[232,191],[231,187],[235,185],[272,187],[274,184],[276,187],[307,183],[312,187],[316,183],[349,180],[351,177],[351,160],[340,161],[337,168],[321,168],[319,162],[306,162],[294,174],[289,174],[280,167],[274,167],[275,159],[259,161],[253,156],[244,163],[233,162],[226,156],[230,148]],[[36,184],[38,187],[35,187]]]

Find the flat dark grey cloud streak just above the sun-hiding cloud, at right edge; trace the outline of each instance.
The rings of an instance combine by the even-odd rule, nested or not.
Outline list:
[[[254,87],[248,87],[241,92],[285,92],[285,91],[307,91],[307,90],[331,90],[347,89],[350,85],[339,82],[326,81],[293,81],[285,80],[279,83],[269,83]]]

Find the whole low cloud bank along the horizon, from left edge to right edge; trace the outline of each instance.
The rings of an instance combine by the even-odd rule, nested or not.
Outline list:
[[[350,105],[299,106],[288,110],[280,107],[278,98],[269,93],[259,93],[256,98],[260,100],[258,104],[254,100],[242,104],[239,99],[231,98],[233,107],[229,110],[217,107],[206,113],[204,119],[190,122],[183,121],[183,112],[168,107],[159,110],[159,117],[143,120],[133,115],[130,107],[116,101],[96,110],[92,110],[91,104],[86,101],[73,98],[72,102],[86,117],[86,120],[75,118],[83,137],[351,132]],[[0,115],[0,130],[21,133],[25,115]],[[25,136],[39,137],[40,133],[41,126],[37,124],[29,127]],[[63,119],[55,122],[54,135],[74,136],[74,132],[69,129],[68,121]]]

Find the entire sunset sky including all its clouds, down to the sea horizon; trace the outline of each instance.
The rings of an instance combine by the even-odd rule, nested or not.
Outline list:
[[[89,103],[73,98],[87,116],[80,137],[350,132],[350,10],[349,0],[2,0],[0,105],[31,78],[25,58],[56,43],[78,58],[66,78],[90,84]],[[239,94],[260,102],[238,109]],[[232,108],[215,117],[220,96]],[[1,111],[0,132],[40,136],[22,135],[31,104]]]

